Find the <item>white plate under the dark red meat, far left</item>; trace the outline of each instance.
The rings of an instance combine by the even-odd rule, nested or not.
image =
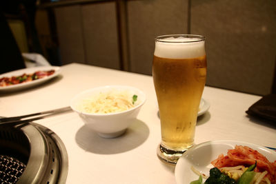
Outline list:
[[[46,82],[46,81],[54,78],[55,76],[59,75],[60,72],[61,72],[61,69],[58,66],[39,66],[39,67],[32,67],[32,68],[24,68],[24,69],[21,69],[21,70],[15,70],[15,71],[12,71],[12,72],[7,72],[7,73],[4,73],[4,74],[1,74],[0,79],[2,77],[20,76],[24,73],[32,74],[32,73],[37,72],[37,71],[47,71],[47,70],[55,70],[55,73],[51,74],[50,76],[46,76],[46,77],[43,77],[41,79],[37,79],[37,80],[34,80],[34,81],[29,81],[29,82],[26,82],[26,83],[19,83],[19,84],[14,84],[14,85],[8,85],[8,86],[5,86],[5,87],[0,87],[0,92],[1,91],[21,90],[23,88],[30,88],[33,85],[39,85],[40,83]]]

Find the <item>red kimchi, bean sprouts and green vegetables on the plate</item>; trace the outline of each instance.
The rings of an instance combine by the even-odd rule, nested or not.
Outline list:
[[[199,180],[192,184],[202,183],[207,178],[208,183],[237,183],[237,184],[265,184],[276,183],[276,161],[270,162],[265,156],[250,147],[236,145],[235,149],[228,150],[226,156],[219,154],[217,159],[211,161],[214,166],[210,176],[201,174],[194,167],[192,170],[199,174]]]

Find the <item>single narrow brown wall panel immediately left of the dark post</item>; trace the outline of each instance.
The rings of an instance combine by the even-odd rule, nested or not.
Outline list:
[[[120,69],[115,2],[81,7],[86,63]]]

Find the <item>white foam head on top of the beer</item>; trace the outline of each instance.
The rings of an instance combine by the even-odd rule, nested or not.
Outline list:
[[[155,41],[155,56],[168,59],[192,59],[205,53],[204,40],[200,38],[168,37]]]

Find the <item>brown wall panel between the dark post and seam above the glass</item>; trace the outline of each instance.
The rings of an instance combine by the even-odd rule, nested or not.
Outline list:
[[[152,74],[155,37],[186,34],[188,0],[128,1],[130,71]]]

